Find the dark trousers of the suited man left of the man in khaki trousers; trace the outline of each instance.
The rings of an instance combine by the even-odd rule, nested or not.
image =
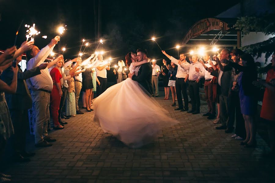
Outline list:
[[[13,122],[14,135],[12,138],[13,147],[16,153],[25,151],[26,133],[29,126],[28,109],[9,109]]]

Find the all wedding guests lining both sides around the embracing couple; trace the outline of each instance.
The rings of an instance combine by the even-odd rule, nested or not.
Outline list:
[[[92,100],[107,89],[107,70],[110,62],[101,54],[92,54],[82,61],[81,57],[65,59],[59,55],[47,62],[60,37],[53,38],[41,50],[34,41],[24,42],[0,55],[0,150],[3,152],[7,139],[13,141],[15,160],[30,161],[35,153],[26,152],[26,133],[30,122],[35,135],[36,147],[49,147],[56,139],[48,135],[50,121],[53,129],[64,129],[65,119],[83,114],[79,109],[82,91],[83,108],[91,112]],[[271,64],[265,67],[266,81],[257,79],[257,67],[251,55],[240,49],[223,49],[217,56],[205,53],[203,59],[193,55],[186,60],[185,54],[179,59],[162,51],[168,59],[163,59],[160,67],[152,61],[152,96],[158,97],[158,78],[163,77],[164,100],[168,100],[170,90],[177,111],[200,113],[200,82],[204,79],[204,90],[208,112],[207,119],[215,119],[221,124],[217,130],[235,134],[232,138],[242,140],[240,145],[256,146],[255,114],[257,111],[258,88],[265,87],[261,117],[269,125],[271,154],[275,154],[275,54]],[[27,69],[23,72],[19,63],[26,53]],[[117,83],[127,78],[128,69],[123,60],[113,70]],[[188,89],[188,93],[187,93]],[[189,109],[189,98],[191,108]],[[184,101],[184,102],[183,102]],[[216,104],[217,111],[216,114]],[[1,181],[9,181],[10,176],[0,174]]]

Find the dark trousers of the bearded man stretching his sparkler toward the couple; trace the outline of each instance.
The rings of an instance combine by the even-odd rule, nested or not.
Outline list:
[[[178,107],[183,108],[182,95],[184,99],[184,108],[188,109],[188,95],[187,95],[187,86],[184,82],[185,78],[176,79],[176,95],[178,99]]]

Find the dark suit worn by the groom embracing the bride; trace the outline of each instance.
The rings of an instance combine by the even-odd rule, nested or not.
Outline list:
[[[138,81],[151,95],[153,95],[152,88],[152,66],[150,63],[142,64],[138,70],[138,76],[133,75],[132,80]]]

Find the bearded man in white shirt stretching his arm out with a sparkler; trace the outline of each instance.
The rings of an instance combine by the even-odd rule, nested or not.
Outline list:
[[[178,108],[176,108],[175,110],[188,111],[189,107],[186,82],[188,81],[190,63],[186,61],[186,56],[183,53],[180,54],[179,60],[168,55],[165,51],[162,51],[162,53],[167,56],[171,60],[171,62],[178,66],[176,75],[176,95],[178,99]],[[181,65],[185,67],[181,67]],[[184,107],[182,102],[182,95],[184,99]]]

